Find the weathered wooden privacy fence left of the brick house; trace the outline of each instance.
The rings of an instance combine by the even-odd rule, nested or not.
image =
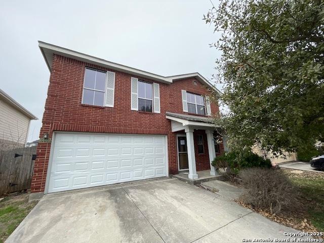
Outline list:
[[[36,148],[0,151],[0,195],[30,188]]]

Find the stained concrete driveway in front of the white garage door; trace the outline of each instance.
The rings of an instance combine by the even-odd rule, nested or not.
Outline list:
[[[242,242],[298,232],[178,179],[44,196],[12,242]]]

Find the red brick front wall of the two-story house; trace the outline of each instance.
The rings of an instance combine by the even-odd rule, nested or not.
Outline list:
[[[115,72],[114,107],[83,105],[82,91],[86,67]],[[171,121],[166,111],[182,111],[181,90],[196,94],[206,94],[205,87],[195,78],[175,81],[174,84],[160,85],[161,113],[142,113],[131,110],[131,77],[136,75],[115,71],[74,59],[53,56],[52,72],[48,96],[43,115],[43,127],[39,137],[45,133],[52,137],[53,131],[163,134],[168,136],[169,173],[178,173],[176,135],[171,132]],[[153,80],[138,77],[152,83]],[[212,113],[218,112],[218,106],[212,104]],[[39,143],[31,191],[44,191],[51,144]],[[205,161],[205,160],[204,160]],[[203,163],[204,164],[204,163]],[[205,164],[204,164],[205,165]],[[204,168],[204,166],[200,166]],[[199,167],[199,168],[200,168]]]

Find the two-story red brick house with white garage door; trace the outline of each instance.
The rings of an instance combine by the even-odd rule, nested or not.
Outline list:
[[[161,76],[39,42],[51,72],[31,192],[210,170],[215,144],[199,73]],[[49,138],[44,142],[42,138]]]

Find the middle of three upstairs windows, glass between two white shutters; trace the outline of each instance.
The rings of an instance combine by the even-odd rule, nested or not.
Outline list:
[[[138,80],[138,110],[153,112],[153,85]]]

